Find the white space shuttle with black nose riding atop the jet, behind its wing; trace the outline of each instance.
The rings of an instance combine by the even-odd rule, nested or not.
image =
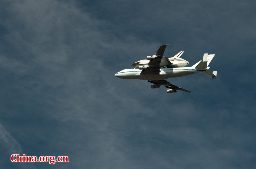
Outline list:
[[[180,51],[174,57],[163,57],[160,62],[160,68],[171,68],[171,67],[185,67],[189,64],[185,59],[180,58],[184,51]],[[150,60],[144,59],[133,63],[131,66],[135,68],[140,68],[141,66],[148,65]]]

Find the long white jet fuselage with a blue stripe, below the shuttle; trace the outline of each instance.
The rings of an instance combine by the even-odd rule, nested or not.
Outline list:
[[[124,69],[118,73],[115,73],[115,76],[122,79],[161,80],[192,75],[209,69],[210,67],[207,67],[207,69],[196,69],[194,67],[162,68],[160,69],[159,74],[146,75],[141,75],[140,73],[142,70],[139,69]]]

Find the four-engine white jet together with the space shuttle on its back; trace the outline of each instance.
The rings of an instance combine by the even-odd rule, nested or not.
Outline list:
[[[191,93],[186,89],[175,86],[164,79],[176,78],[187,75],[192,75],[195,73],[204,73],[206,75],[212,76],[212,79],[216,79],[217,71],[211,73],[209,71],[211,60],[215,54],[205,53],[203,59],[197,62],[191,67],[180,67],[181,65],[187,65],[188,62],[184,59],[179,58],[184,51],[180,51],[172,58],[163,57],[163,53],[166,49],[166,45],[161,45],[157,52],[153,56],[147,56],[147,60],[141,60],[132,64],[134,69],[124,69],[115,76],[122,79],[141,79],[148,80],[148,82],[153,83],[151,88],[160,88],[160,86],[165,86],[169,88],[167,93],[175,93],[177,90],[182,90]],[[174,62],[177,60],[178,62]]]

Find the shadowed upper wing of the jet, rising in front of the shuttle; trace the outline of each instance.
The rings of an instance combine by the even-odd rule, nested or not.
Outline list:
[[[155,58],[150,59],[148,67],[141,71],[141,75],[146,74],[159,74],[160,73],[160,63],[163,58],[163,53],[165,51],[166,45],[161,45],[157,52],[155,53]]]

